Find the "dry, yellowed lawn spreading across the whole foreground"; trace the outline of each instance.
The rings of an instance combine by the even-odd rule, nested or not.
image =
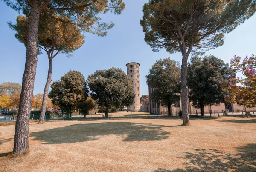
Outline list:
[[[29,123],[26,156],[9,158],[15,126],[0,127],[0,171],[256,171],[256,119],[126,119]]]

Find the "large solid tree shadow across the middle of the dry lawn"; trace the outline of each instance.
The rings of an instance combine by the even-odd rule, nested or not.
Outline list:
[[[105,135],[120,136],[122,141],[156,141],[167,139],[170,135],[170,132],[163,130],[165,127],[171,126],[131,122],[87,123],[32,132],[29,136],[45,144],[85,142]]]

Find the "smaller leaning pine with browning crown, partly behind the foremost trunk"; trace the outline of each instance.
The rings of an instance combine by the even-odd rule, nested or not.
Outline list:
[[[65,22],[63,22],[65,21]],[[15,37],[24,45],[27,45],[28,17],[17,16],[17,23],[9,23],[11,29],[17,33]],[[44,87],[44,97],[41,104],[39,123],[44,123],[44,115],[47,107],[49,87],[52,82],[52,59],[60,53],[71,56],[71,52],[81,47],[84,43],[84,36],[80,33],[76,25],[72,25],[70,20],[55,16],[49,18],[47,15],[40,16],[38,26],[38,47],[47,53],[49,60],[47,81]]]

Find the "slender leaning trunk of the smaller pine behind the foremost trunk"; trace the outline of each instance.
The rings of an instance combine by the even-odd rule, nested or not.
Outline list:
[[[48,92],[49,92],[50,84],[52,82],[52,57],[48,57],[48,58],[49,58],[49,69],[48,69],[48,76],[47,76],[46,84],[44,87],[44,96],[43,96],[43,102],[42,102],[39,123],[44,123],[44,116],[45,116],[45,112],[46,112]]]

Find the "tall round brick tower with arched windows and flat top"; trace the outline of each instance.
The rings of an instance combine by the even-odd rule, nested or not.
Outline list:
[[[132,85],[135,94],[134,104],[127,107],[127,111],[138,112],[140,111],[140,64],[131,62],[126,64],[127,75],[132,80]]]

